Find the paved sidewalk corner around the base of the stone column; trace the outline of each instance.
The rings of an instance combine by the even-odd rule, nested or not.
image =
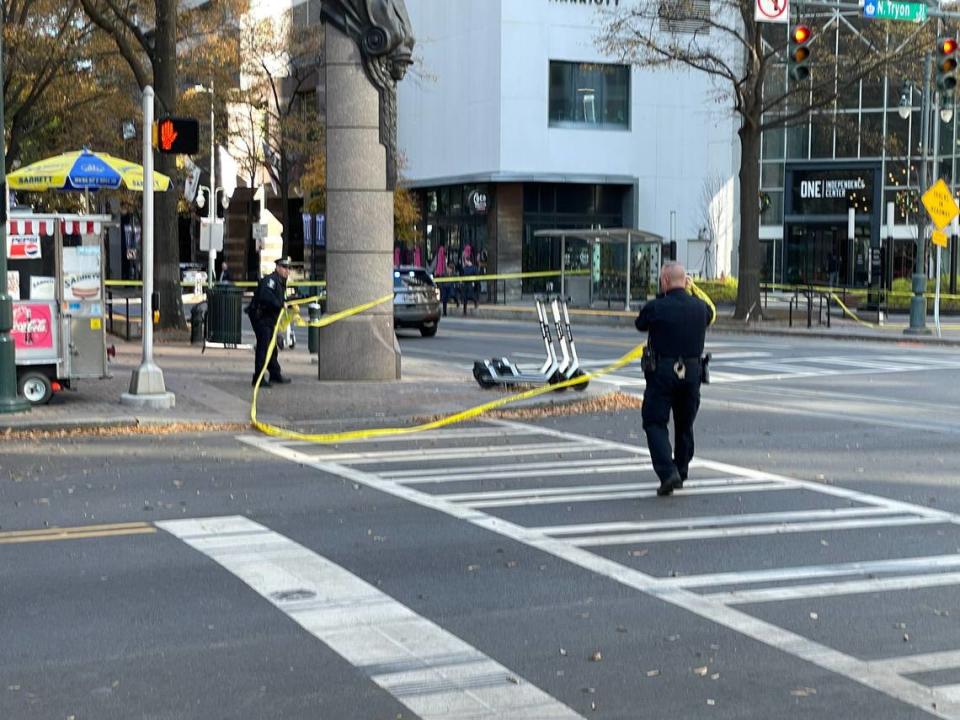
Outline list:
[[[172,410],[131,408],[120,404],[130,376],[140,363],[141,345],[108,336],[116,346],[110,363],[112,377],[85,380],[76,390],[58,393],[49,405],[27,413],[0,415],[4,431],[71,430],[134,425],[216,424],[247,426],[253,389],[251,350],[207,349],[184,342],[158,342],[156,363],[163,370],[167,390],[176,395]],[[305,345],[280,353],[284,375],[293,382],[263,388],[258,397],[258,419],[300,431],[335,432],[360,427],[389,427],[414,420],[453,414],[509,394],[481,389],[466,369],[404,357],[399,382],[324,382]],[[596,386],[584,392],[548,393],[511,404],[542,406],[595,398],[608,391]]]

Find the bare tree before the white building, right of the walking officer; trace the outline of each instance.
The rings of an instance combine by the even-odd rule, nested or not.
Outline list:
[[[832,122],[838,98],[861,80],[879,81],[890,68],[914,60],[932,28],[863,21],[856,11],[816,9],[804,14],[813,31],[812,73],[786,81],[784,25],[754,20],[756,0],[639,0],[611,14],[599,38],[608,53],[648,68],[686,67],[710,76],[719,99],[740,120],[739,289],[734,317],[744,319],[760,300],[760,138],[811,117]],[[818,43],[825,28],[840,28],[840,51]],[[899,74],[901,70],[896,70]]]

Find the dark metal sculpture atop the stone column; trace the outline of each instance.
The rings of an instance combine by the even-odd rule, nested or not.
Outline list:
[[[404,0],[324,0],[326,22],[353,40],[367,78],[380,93],[380,142],[387,150],[387,189],[396,187],[397,83],[413,64],[413,29]]]

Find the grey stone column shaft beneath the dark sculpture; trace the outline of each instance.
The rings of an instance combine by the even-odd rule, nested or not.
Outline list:
[[[326,33],[327,314],[393,292],[393,192],[380,144],[380,96],[360,48]],[[399,380],[393,302],[320,329],[321,380]]]

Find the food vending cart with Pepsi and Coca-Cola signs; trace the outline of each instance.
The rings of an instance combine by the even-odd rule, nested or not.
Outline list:
[[[104,215],[17,215],[7,287],[20,394],[34,405],[77,380],[107,377]]]

